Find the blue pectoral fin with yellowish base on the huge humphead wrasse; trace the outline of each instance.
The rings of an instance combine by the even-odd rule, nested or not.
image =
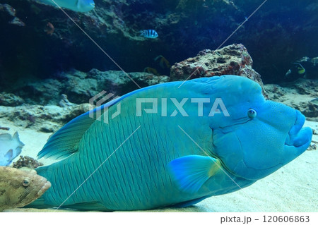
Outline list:
[[[172,160],[169,169],[180,190],[196,193],[220,169],[220,162],[213,157],[189,155]]]

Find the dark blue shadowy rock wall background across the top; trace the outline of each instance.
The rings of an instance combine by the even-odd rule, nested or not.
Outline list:
[[[58,8],[26,0],[10,4],[16,18],[0,10],[0,77],[11,83],[22,77],[50,78],[61,71],[117,70],[117,66]],[[66,11],[105,49],[124,71],[143,71],[158,55],[170,64],[216,49],[260,2],[103,0],[89,13]],[[1,7],[0,7],[1,8]],[[242,43],[265,83],[284,79],[290,64],[316,57],[318,4],[310,1],[268,1],[226,44]],[[54,25],[47,34],[47,23]],[[155,29],[158,39],[142,39],[139,31]],[[169,74],[164,74],[169,75]]]

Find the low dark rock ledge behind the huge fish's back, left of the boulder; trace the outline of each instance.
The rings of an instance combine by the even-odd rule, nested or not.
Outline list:
[[[125,74],[122,71],[98,71],[97,69],[84,73],[72,70],[60,73],[54,79],[30,81],[26,84],[16,85],[14,91],[22,96],[28,104],[54,104],[67,107],[73,103],[88,102],[91,97],[102,90],[120,96],[138,89],[139,87],[129,77],[140,87],[169,81],[169,77],[165,75],[158,76],[152,73]],[[67,96],[69,103],[64,102],[62,95]]]

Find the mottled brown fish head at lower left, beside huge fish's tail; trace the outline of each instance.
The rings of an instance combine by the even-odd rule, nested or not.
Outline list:
[[[35,170],[0,166],[0,212],[28,205],[50,187],[51,183]]]

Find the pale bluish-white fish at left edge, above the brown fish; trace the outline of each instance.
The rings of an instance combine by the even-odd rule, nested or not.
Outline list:
[[[24,146],[20,141],[18,132],[13,137],[9,133],[0,134],[0,166],[8,166],[15,159]]]

